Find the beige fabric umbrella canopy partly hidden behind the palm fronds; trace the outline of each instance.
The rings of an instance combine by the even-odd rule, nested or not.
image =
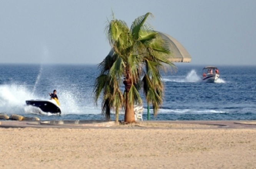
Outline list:
[[[175,38],[162,32],[158,32],[161,37],[167,41],[168,48],[171,51],[170,61],[171,62],[190,62],[191,56],[188,51],[178,42]]]

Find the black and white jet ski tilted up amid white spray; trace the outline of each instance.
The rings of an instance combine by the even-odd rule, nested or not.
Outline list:
[[[38,107],[45,113],[61,114],[60,105],[58,100],[55,99],[26,100],[26,104],[28,106]]]

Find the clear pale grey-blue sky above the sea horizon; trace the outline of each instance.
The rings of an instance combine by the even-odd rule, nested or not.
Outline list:
[[[98,64],[105,28],[147,12],[194,65],[256,66],[256,0],[0,0],[0,64]]]

